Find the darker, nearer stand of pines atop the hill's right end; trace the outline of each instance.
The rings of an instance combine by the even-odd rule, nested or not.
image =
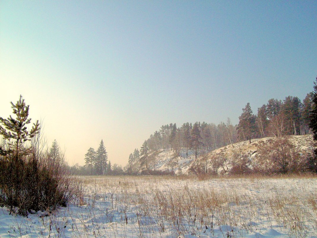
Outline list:
[[[257,109],[254,115],[250,103],[242,109],[237,125],[238,138],[249,140],[267,136],[311,134],[309,112],[312,110],[313,93],[303,102],[296,96],[287,96],[283,101],[270,99]]]

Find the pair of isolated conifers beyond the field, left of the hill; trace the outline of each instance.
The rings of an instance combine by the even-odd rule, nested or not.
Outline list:
[[[90,147],[85,155],[85,164],[90,170],[90,175],[106,175],[112,170],[111,162],[108,162],[108,155],[103,143],[100,141],[97,151]]]

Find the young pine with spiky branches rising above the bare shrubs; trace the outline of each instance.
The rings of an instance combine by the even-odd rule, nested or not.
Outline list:
[[[27,125],[31,122],[31,118],[28,118],[29,105],[26,106],[21,95],[16,104],[11,102],[11,108],[16,118],[12,118],[11,115],[7,119],[0,117],[0,122],[4,126],[2,127],[0,125],[0,135],[9,141],[9,145],[14,148],[14,156],[16,160],[18,160],[24,142],[31,140],[31,138],[40,132],[40,124],[36,121],[33,123],[32,128],[28,130]],[[13,141],[13,143],[11,141]]]

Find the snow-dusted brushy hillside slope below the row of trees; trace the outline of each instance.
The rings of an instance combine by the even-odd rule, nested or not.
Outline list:
[[[159,149],[151,152],[146,161],[130,164],[127,172],[178,175],[314,172],[313,149],[312,135],[265,137],[252,139],[251,144],[249,141],[237,142],[201,154],[197,159],[192,149],[186,151],[183,148],[180,154]]]

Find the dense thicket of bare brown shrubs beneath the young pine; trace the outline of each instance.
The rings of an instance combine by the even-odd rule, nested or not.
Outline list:
[[[14,160],[6,156],[0,162],[0,203],[11,212],[27,215],[38,210],[54,210],[78,202],[83,187],[68,171],[64,155],[52,160],[47,151],[41,151],[40,136],[32,139],[29,153]]]

